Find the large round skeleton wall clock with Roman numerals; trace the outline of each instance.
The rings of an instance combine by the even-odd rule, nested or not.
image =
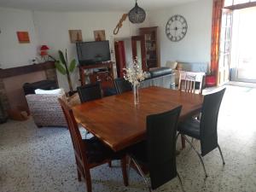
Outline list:
[[[166,23],[166,36],[172,42],[183,39],[187,33],[188,24],[182,15],[173,15]]]

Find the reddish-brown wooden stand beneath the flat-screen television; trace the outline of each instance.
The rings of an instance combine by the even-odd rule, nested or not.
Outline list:
[[[100,69],[100,68],[106,68],[106,71],[99,70],[98,72],[93,72],[90,74],[85,74],[84,71],[89,69]],[[86,84],[85,78],[86,76],[89,77],[90,83],[96,83],[97,81],[100,81],[102,84],[102,89],[106,90],[108,88],[113,88],[113,62],[101,62],[96,63],[93,65],[80,65],[79,66],[79,75],[80,75],[80,82],[81,85]]]

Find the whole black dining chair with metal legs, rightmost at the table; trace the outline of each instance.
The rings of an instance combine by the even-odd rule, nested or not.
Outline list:
[[[204,172],[207,177],[206,167],[202,160],[202,157],[211,152],[213,149],[218,148],[218,151],[223,160],[223,165],[225,164],[222,151],[218,145],[218,111],[222,98],[224,96],[225,88],[219,90],[218,92],[204,96],[204,102],[201,109],[201,119],[190,118],[177,127],[177,137],[182,134],[189,145],[195,150],[195,153],[199,156],[201,164],[203,166]],[[200,140],[201,142],[201,154],[196,150],[193,143],[191,143],[188,137],[192,137]]]

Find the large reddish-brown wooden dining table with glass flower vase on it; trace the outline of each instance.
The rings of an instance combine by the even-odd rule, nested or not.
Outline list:
[[[107,96],[73,107],[75,119],[95,137],[114,151],[143,141],[146,135],[146,117],[163,113],[182,105],[179,121],[200,113],[203,96],[148,87],[139,90],[139,104],[133,102],[133,92]]]

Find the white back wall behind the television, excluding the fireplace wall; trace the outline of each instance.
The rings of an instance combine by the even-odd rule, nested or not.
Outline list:
[[[38,43],[47,44],[50,54],[56,55],[58,49],[67,49],[69,59],[77,57],[75,44],[70,43],[69,29],[81,29],[84,41],[94,41],[95,30],[105,30],[106,38],[113,45],[113,29],[119,22],[123,12],[34,12],[34,23],[38,32]],[[142,25],[132,25],[128,18],[123,23],[119,34],[115,37],[131,37],[137,35],[138,28],[148,26],[146,20]],[[114,56],[114,55],[113,55]],[[67,88],[67,79],[58,75],[61,87]],[[73,74],[74,88],[79,85],[79,73]]]

